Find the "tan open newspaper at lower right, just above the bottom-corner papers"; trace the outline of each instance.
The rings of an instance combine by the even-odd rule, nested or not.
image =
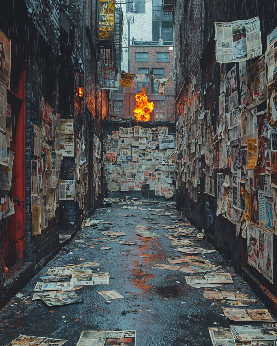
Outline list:
[[[222,308],[225,317],[232,321],[271,321],[275,320],[271,317],[270,313],[266,309],[259,310],[243,310],[243,309],[231,309]]]

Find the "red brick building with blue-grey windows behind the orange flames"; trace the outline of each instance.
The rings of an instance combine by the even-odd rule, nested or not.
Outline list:
[[[173,73],[173,43],[166,42],[157,45],[156,42],[141,42],[133,40],[130,46],[130,73],[144,74],[144,81],[133,82],[131,89],[120,88],[113,93],[111,99],[111,114],[122,118],[133,116],[136,105],[135,94],[145,87],[148,101],[154,103],[151,120],[172,121],[175,113],[175,91],[172,78],[165,86],[164,95],[158,91],[158,83],[154,82],[153,76],[167,78]]]

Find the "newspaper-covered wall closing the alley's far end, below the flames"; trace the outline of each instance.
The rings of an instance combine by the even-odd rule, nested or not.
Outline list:
[[[111,122],[104,158],[109,197],[172,198],[174,153],[174,122]]]

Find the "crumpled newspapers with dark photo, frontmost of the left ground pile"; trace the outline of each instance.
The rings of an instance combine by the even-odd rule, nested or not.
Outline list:
[[[41,299],[48,306],[61,306],[83,302],[74,291],[50,291],[45,293],[34,293],[32,300]]]

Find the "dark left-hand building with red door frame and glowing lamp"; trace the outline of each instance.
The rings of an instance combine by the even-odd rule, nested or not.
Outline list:
[[[105,193],[101,150],[109,91],[101,89],[101,78],[103,66],[116,65],[122,11],[115,10],[116,38],[104,42],[97,12],[95,0],[2,1],[0,41],[10,41],[11,73],[10,85],[1,85],[1,110],[4,103],[11,109],[11,136],[1,140],[9,161],[0,156],[0,171],[12,173],[9,191],[1,189],[3,175],[0,183],[0,307],[59,251],[60,229],[73,234]],[[67,156],[61,144],[66,119],[73,123]],[[7,134],[8,126],[1,138]],[[72,181],[69,199],[62,198],[60,181]]]

